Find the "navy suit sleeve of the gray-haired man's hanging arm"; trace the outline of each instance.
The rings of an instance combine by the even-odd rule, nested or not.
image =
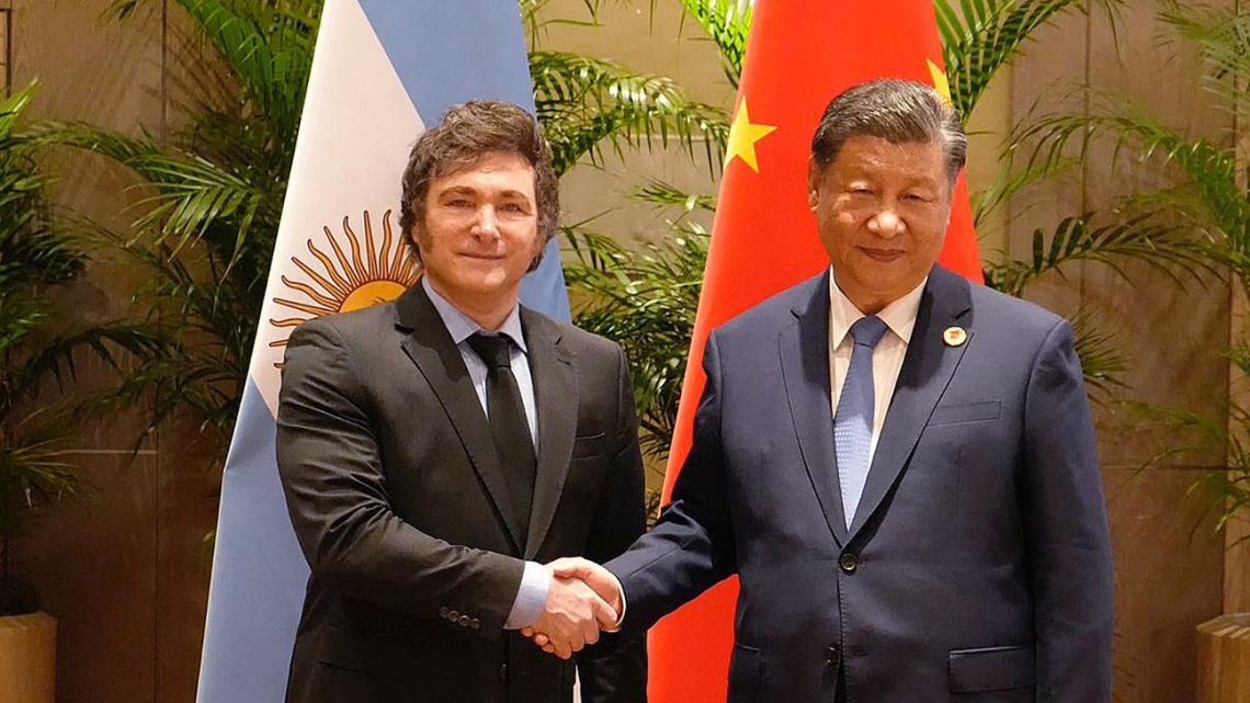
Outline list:
[[[1025,400],[1025,533],[1034,579],[1039,703],[1111,700],[1111,545],[1089,400],[1060,321]]]

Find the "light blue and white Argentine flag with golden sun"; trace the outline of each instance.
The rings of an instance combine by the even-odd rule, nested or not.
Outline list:
[[[448,106],[534,110],[516,0],[326,0],[249,383],[226,459],[199,703],[280,703],[308,565],[274,459],[291,329],[399,296],[416,263],[399,230],[400,175]],[[569,319],[552,239],[521,299]]]

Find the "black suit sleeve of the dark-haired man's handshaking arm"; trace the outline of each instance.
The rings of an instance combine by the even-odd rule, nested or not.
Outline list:
[[[390,508],[362,379],[330,319],[291,334],[278,409],[278,469],[312,574],[345,595],[396,613],[436,618],[460,604],[495,638],[524,563],[449,544]]]

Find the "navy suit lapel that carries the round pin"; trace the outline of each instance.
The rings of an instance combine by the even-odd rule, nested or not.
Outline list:
[[[920,439],[920,433],[929,423],[938,400],[946,392],[960,359],[964,358],[964,350],[972,341],[971,315],[966,314],[970,309],[969,283],[940,266],[934,266],[920,298],[916,325],[912,328],[911,341],[908,344],[908,353],[899,370],[890,409],[885,415],[885,427],[881,428],[881,437],[876,443],[864,495],[855,510],[850,530],[852,539],[898,482]],[[946,328],[956,325],[965,328],[968,340],[959,346],[949,346],[942,334]]]

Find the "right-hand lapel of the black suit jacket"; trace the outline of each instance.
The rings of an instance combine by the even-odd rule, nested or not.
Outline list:
[[[534,559],[555,519],[569,475],[578,429],[578,372],[575,357],[560,344],[560,329],[555,324],[522,306],[521,326],[529,346],[534,404],[539,413],[539,463],[530,530],[525,539],[525,558]]]

